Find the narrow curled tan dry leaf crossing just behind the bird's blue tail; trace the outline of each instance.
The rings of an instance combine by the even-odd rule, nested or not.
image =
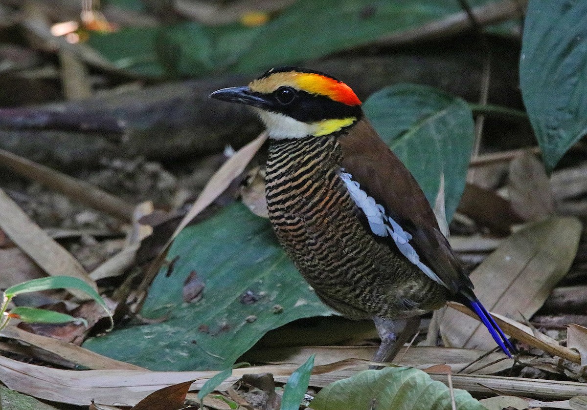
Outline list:
[[[468,308],[456,302],[448,302],[448,306],[464,313],[467,316],[478,321],[478,316],[471,312]],[[448,312],[448,311],[447,311]],[[570,360],[573,363],[581,363],[581,356],[574,350],[568,349],[567,347],[561,346],[558,341],[548,337],[543,333],[535,332],[534,329],[516,322],[515,320],[509,319],[508,317],[498,315],[497,313],[491,312],[491,315],[495,319],[495,322],[501,327],[501,329],[509,334],[514,339],[521,341],[522,343],[528,344],[532,347],[544,350],[547,353],[553,354]]]

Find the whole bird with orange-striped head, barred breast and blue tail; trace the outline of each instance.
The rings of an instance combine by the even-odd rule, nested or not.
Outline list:
[[[375,320],[382,338],[376,361],[390,361],[402,346],[402,322],[413,334],[420,315],[447,300],[477,313],[511,357],[514,346],[473,293],[424,193],[349,86],[281,67],[210,97],[249,105],[265,123],[275,234],[326,305]]]

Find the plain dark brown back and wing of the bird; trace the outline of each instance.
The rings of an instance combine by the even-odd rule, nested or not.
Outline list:
[[[410,244],[436,275],[457,293],[473,289],[448,241],[440,233],[430,204],[409,170],[366,119],[340,136],[342,166],[360,187],[413,238]],[[390,247],[395,247],[390,238]]]

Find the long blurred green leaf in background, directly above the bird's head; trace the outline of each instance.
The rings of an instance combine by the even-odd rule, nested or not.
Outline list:
[[[315,59],[459,10],[458,2],[443,0],[299,0],[259,31],[232,70],[255,72],[269,68],[268,62],[278,66]]]

